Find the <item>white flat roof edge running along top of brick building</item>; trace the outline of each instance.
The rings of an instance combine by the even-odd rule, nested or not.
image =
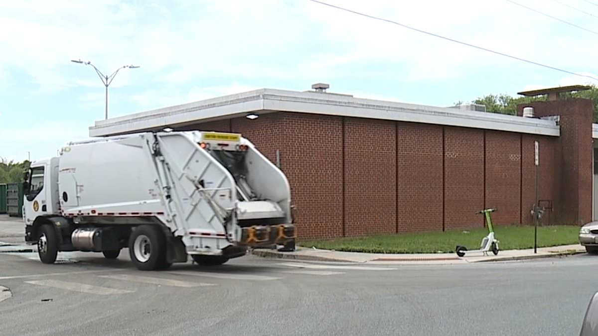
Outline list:
[[[182,127],[195,123],[245,116],[249,112],[297,112],[339,117],[407,121],[476,129],[559,136],[552,120],[523,118],[457,108],[356,98],[316,91],[288,91],[262,88],[199,102],[169,106],[108,120],[96,121],[89,135],[111,136]],[[251,122],[251,120],[248,120]]]

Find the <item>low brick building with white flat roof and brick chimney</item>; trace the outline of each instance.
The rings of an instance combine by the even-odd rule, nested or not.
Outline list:
[[[289,178],[300,239],[530,223],[539,142],[542,222],[593,219],[590,100],[567,87],[520,115],[261,89],[97,121],[90,136],[142,130],[239,132]],[[533,107],[534,115],[523,116]],[[257,117],[257,118],[255,118]],[[592,126],[592,127],[590,127]]]

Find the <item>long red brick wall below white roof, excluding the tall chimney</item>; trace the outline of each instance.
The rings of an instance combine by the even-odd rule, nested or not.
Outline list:
[[[280,150],[300,240],[483,227],[484,207],[496,224],[530,223],[536,139],[540,198],[557,205],[565,188],[547,136],[288,112],[197,129],[243,133],[273,162]]]

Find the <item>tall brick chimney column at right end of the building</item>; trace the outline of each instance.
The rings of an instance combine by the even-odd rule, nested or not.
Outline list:
[[[560,115],[561,133],[554,151],[555,167],[552,168],[557,180],[553,181],[556,188],[553,222],[585,224],[591,221],[593,174],[591,100],[563,99],[520,104],[517,106],[519,115],[523,114],[523,108],[526,106],[533,107],[535,117]]]

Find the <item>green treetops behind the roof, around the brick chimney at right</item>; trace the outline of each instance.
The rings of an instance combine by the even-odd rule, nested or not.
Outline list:
[[[594,123],[598,123],[598,87],[595,85],[590,85],[589,90],[585,91],[578,91],[578,92],[569,92],[566,94],[562,94],[563,99],[568,98],[585,98],[590,99],[594,105]],[[487,112],[493,113],[501,113],[501,114],[517,114],[517,105],[530,103],[530,102],[538,102],[546,100],[545,96],[539,97],[512,97],[508,94],[488,94],[487,96],[479,97],[472,101],[475,104],[486,105]]]

